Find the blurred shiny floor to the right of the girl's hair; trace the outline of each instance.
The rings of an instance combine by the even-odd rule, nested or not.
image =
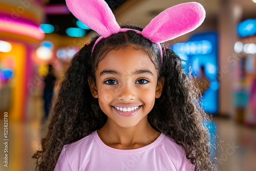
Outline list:
[[[256,170],[256,129],[234,121],[214,118],[216,124],[217,157],[220,170]]]

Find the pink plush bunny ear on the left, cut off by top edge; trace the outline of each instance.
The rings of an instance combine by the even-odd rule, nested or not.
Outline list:
[[[66,4],[77,19],[103,37],[119,32],[120,26],[105,1],[66,0]]]

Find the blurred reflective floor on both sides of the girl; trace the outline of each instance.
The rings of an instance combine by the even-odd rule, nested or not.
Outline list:
[[[0,170],[32,171],[34,162],[31,158],[39,144],[45,126],[41,124],[41,98],[31,97],[29,102],[27,122],[8,122],[8,146],[6,141],[0,145]],[[235,123],[232,119],[214,117],[209,124],[209,130],[214,138],[211,142],[217,144],[212,148],[219,160],[220,170],[255,171],[256,170],[256,129]],[[0,120],[0,137],[4,137],[4,120]],[[8,153],[5,149],[8,148]],[[8,167],[6,159],[8,154]],[[4,166],[6,165],[6,166]]]

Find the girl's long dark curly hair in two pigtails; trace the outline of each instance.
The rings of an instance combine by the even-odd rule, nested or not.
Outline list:
[[[122,28],[142,30],[134,26]],[[210,118],[201,108],[200,90],[195,86],[195,79],[190,73],[183,72],[182,60],[163,45],[161,59],[158,46],[135,31],[102,38],[93,49],[97,38],[74,55],[60,83],[53,99],[47,133],[41,139],[41,148],[33,155],[36,169],[54,170],[65,144],[77,141],[105,124],[107,117],[91,94],[88,78],[95,81],[97,65],[108,52],[135,46],[150,57],[158,71],[158,79],[165,78],[162,95],[147,115],[148,122],[184,148],[186,158],[196,166],[195,170],[217,170],[210,155],[209,132],[204,125]]]

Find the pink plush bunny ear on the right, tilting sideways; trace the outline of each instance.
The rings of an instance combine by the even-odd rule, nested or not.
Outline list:
[[[195,30],[203,23],[204,18],[205,10],[201,4],[179,4],[152,19],[143,29],[142,35],[158,44]]]

